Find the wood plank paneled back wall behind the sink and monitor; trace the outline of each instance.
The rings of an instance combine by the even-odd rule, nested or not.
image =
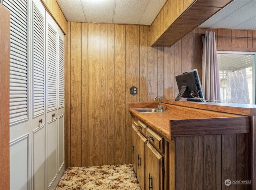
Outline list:
[[[147,26],[68,22],[66,39],[66,166],[130,163],[128,102],[178,94],[174,76],[202,65],[196,30],[152,48]]]

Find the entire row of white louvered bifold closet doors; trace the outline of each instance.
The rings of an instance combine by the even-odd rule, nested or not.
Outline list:
[[[10,189],[55,189],[64,171],[64,35],[40,0],[10,11]]]

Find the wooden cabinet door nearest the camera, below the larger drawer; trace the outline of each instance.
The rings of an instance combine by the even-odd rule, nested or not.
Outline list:
[[[146,190],[163,190],[164,178],[163,168],[164,158],[162,155],[148,142],[146,145]]]

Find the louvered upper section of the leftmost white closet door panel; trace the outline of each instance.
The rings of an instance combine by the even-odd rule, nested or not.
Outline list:
[[[4,0],[10,10],[10,125],[28,119],[27,1]]]

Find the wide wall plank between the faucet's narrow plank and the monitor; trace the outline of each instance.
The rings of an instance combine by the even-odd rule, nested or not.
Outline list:
[[[174,46],[164,47],[164,97],[174,98]]]

